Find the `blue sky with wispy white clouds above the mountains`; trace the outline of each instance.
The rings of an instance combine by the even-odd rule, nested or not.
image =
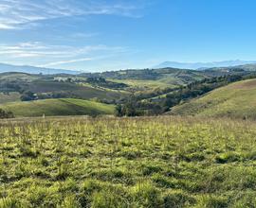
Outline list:
[[[255,0],[0,0],[0,62],[98,72],[256,60]]]

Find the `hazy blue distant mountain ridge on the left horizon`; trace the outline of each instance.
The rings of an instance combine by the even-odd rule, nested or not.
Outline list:
[[[76,75],[80,72],[72,71],[72,70],[64,70],[64,69],[50,69],[43,67],[35,67],[35,66],[18,66],[18,65],[10,65],[6,63],[0,63],[0,73],[4,72],[23,72],[28,74],[44,74],[44,75],[54,75],[54,74],[70,74]]]

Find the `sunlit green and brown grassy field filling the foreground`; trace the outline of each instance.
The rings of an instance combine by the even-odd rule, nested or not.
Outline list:
[[[256,123],[0,123],[0,207],[255,207]]]

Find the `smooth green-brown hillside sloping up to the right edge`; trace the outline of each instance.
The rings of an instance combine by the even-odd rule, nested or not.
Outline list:
[[[256,79],[229,84],[176,106],[172,114],[256,119]]]

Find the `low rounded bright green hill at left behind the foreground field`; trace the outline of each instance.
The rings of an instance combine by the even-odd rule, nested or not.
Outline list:
[[[45,99],[28,102],[13,102],[0,108],[14,113],[17,117],[57,116],[57,115],[97,115],[113,114],[115,107],[81,99]]]

